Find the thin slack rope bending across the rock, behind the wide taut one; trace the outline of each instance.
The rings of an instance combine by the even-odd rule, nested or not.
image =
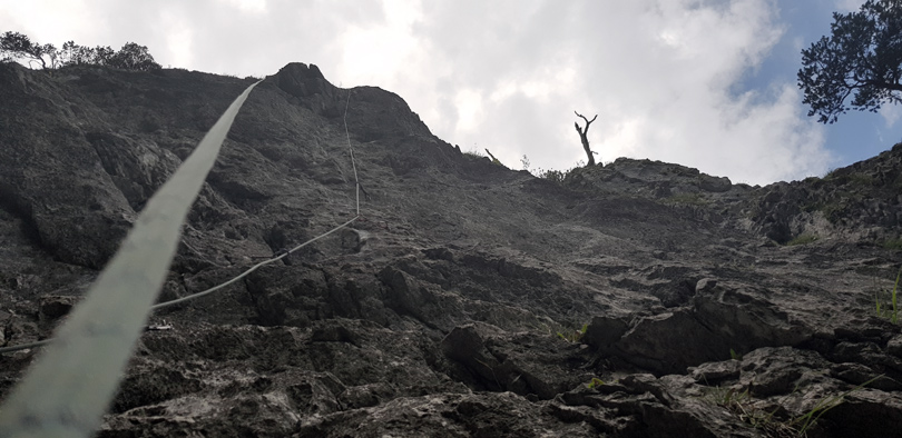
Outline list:
[[[349,225],[353,223],[355,220],[360,219],[360,179],[357,177],[356,160],[354,159],[354,148],[351,146],[351,135],[349,133],[349,130],[347,130],[347,108],[349,108],[350,103],[351,103],[351,90],[347,90],[347,99],[344,102],[344,119],[343,119],[343,121],[344,121],[344,137],[345,137],[345,140],[347,141],[349,153],[351,155],[351,167],[352,167],[352,169],[354,169],[354,186],[355,186],[355,195],[356,195],[356,209],[355,209],[355,212],[356,212],[356,215],[353,218],[351,218],[351,220],[349,220],[349,221],[346,221],[346,222],[344,222],[344,223],[342,223],[342,225],[340,225],[340,226],[337,226],[337,227],[335,227],[335,228],[333,228],[333,229],[331,229],[331,230],[329,230],[329,231],[326,231],[326,232],[324,232],[324,233],[322,233],[320,236],[316,236],[316,237],[314,237],[314,238],[312,238],[312,239],[310,239],[310,240],[307,240],[307,241],[305,241],[305,242],[290,249],[288,251],[282,252],[277,257],[273,257],[273,258],[269,258],[267,260],[264,260],[264,261],[261,261],[261,262],[254,265],[253,267],[246,269],[242,273],[233,277],[232,279],[229,279],[229,280],[227,280],[225,282],[222,282],[222,283],[219,283],[217,286],[214,286],[214,287],[212,287],[209,289],[199,291],[197,293],[192,293],[192,295],[186,296],[186,297],[182,297],[182,298],[177,298],[177,299],[174,299],[174,300],[164,301],[164,302],[154,305],[154,306],[150,307],[151,311],[157,310],[157,309],[163,309],[163,308],[169,307],[169,306],[175,306],[175,305],[178,305],[178,303],[182,303],[182,302],[185,302],[185,301],[194,300],[194,299],[210,295],[210,293],[213,293],[213,292],[215,292],[215,291],[217,291],[219,289],[225,288],[226,286],[229,286],[229,285],[232,285],[232,283],[247,277],[248,275],[251,275],[251,272],[259,269],[261,267],[269,265],[269,263],[278,261],[278,260],[282,260],[285,257],[288,257],[292,252],[297,251],[298,249],[304,248],[307,245],[311,245],[311,243],[313,243],[313,242],[315,242],[315,241],[317,241],[317,240],[320,240],[320,239],[322,239],[322,238],[324,238],[324,237],[326,237],[329,235],[332,235],[333,232],[339,231],[342,228],[345,228]],[[50,339],[45,339],[45,340],[40,340],[40,341],[35,341],[35,342],[20,344],[20,345],[11,346],[11,347],[3,347],[3,348],[0,348],[0,355],[7,354],[7,352],[13,352],[13,351],[27,350],[27,349],[30,349],[30,348],[41,347],[41,346],[48,345],[48,344],[50,344],[52,341],[53,341],[53,339],[50,338]]]

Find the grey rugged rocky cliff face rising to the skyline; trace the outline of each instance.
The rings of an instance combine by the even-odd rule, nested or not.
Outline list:
[[[51,336],[249,83],[0,66],[0,345]],[[353,217],[345,106],[362,218],[156,313],[170,329],[141,338],[99,436],[902,430],[902,335],[875,312],[902,262],[900,146],[767,187],[629,159],[556,183],[293,63],[236,119],[161,300]],[[0,357],[0,397],[36,354]]]

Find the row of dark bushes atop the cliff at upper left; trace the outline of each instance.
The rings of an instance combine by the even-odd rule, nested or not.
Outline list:
[[[53,44],[39,44],[19,32],[6,32],[0,36],[0,58],[4,61],[27,60],[29,66],[39,62],[45,70],[66,66],[109,66],[137,71],[160,68],[146,46],[134,42],[127,42],[116,51],[110,47],[90,48],[67,41],[58,50]]]

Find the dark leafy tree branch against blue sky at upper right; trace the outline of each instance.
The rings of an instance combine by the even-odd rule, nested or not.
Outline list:
[[[902,102],[902,0],[869,0],[833,13],[831,36],[802,50],[798,88],[808,116],[833,123],[850,109],[876,112]],[[851,107],[846,98],[855,91]]]

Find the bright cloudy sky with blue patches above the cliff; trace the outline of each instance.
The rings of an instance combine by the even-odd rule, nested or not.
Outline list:
[[[902,141],[902,108],[824,126],[801,50],[864,0],[0,0],[0,32],[147,46],[164,67],[238,77],[313,63],[401,96],[443,140],[506,166],[677,162],[766,185],[823,176]]]

